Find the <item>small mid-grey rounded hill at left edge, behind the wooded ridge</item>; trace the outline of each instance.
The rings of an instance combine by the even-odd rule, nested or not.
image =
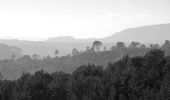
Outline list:
[[[15,59],[22,56],[22,50],[16,46],[0,44],[0,59]]]

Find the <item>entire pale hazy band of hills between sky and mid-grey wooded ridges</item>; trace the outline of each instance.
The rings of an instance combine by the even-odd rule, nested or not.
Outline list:
[[[94,40],[103,42],[103,46],[108,49],[118,42],[123,41],[129,43],[137,41],[141,43],[159,43],[162,44],[165,40],[170,40],[170,24],[159,24],[142,26],[137,28],[129,28],[118,32],[112,36],[105,38],[91,38],[91,39],[75,39],[71,36],[67,37],[54,37],[46,41],[23,41],[23,40],[4,40],[1,39],[0,43],[9,46],[17,46],[22,49],[23,54],[40,56],[54,56],[55,50],[59,50],[59,56],[67,55],[72,52],[73,48],[78,50],[85,50],[87,46],[92,46]]]

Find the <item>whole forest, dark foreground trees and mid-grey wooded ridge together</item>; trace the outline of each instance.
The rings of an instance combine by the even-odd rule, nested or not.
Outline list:
[[[1,60],[0,100],[170,100],[169,40],[101,47]]]

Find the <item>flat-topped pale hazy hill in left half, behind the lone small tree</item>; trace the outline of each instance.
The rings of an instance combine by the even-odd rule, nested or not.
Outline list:
[[[0,40],[10,46],[17,46],[22,49],[25,55],[54,56],[55,50],[59,50],[59,56],[67,55],[72,52],[73,48],[85,50],[86,46],[92,43],[87,42],[54,42],[54,41],[23,41],[23,40]]]

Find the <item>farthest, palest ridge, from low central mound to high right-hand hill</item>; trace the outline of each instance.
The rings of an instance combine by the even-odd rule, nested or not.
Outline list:
[[[161,38],[160,38],[161,37]],[[158,24],[141,26],[136,28],[128,28],[116,34],[104,38],[89,38],[75,39],[71,36],[49,38],[50,42],[92,42],[100,40],[102,42],[148,42],[148,43],[163,43],[165,40],[170,40],[170,24]]]

